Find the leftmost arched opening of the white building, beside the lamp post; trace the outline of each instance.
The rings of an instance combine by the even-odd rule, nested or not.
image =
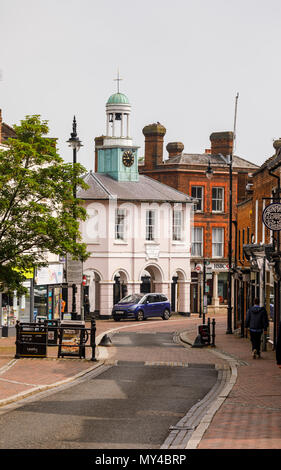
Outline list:
[[[100,281],[101,276],[96,271],[88,270],[84,273],[85,285],[82,290],[82,303],[84,319],[91,320],[100,314]]]

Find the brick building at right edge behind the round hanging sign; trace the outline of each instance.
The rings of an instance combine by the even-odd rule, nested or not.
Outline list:
[[[270,316],[270,338],[275,344],[280,320],[280,235],[263,223],[263,211],[280,201],[281,139],[273,144],[275,153],[251,178],[248,196],[237,205],[238,286],[237,326],[245,333],[245,316],[255,297],[265,305]],[[277,252],[277,260],[274,259]],[[277,262],[276,262],[277,261]],[[271,308],[270,308],[271,304]]]

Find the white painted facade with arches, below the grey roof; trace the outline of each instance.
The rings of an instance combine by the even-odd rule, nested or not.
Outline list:
[[[113,306],[115,276],[127,293],[141,291],[142,277],[151,278],[151,292],[171,300],[177,277],[175,310],[190,313],[191,203],[147,203],[115,200],[85,202],[89,218],[81,224],[83,242],[91,253],[84,263],[90,311],[109,317]],[[124,239],[115,236],[116,209],[125,210]],[[173,210],[182,211],[182,239],[173,240]],[[146,240],[146,211],[155,211],[155,239]]]

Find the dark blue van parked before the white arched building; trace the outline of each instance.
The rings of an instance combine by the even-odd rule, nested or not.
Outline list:
[[[115,321],[129,318],[142,321],[150,317],[169,320],[171,304],[164,294],[131,294],[113,306],[112,316]]]

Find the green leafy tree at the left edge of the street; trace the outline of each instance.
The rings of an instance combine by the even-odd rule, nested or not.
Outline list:
[[[73,195],[85,169],[65,163],[47,121],[26,116],[17,138],[0,151],[0,284],[20,293],[24,272],[46,265],[46,253],[88,257],[79,221],[86,211]]]

